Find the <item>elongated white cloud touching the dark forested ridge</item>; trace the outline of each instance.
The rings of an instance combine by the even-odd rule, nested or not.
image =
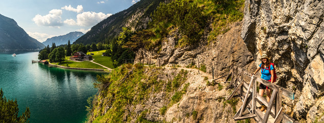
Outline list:
[[[73,19],[67,19],[64,21],[68,25],[78,25],[78,26],[94,26],[95,24],[101,22],[103,19],[106,19],[112,14],[105,14],[102,12],[83,12],[76,15],[76,23]]]

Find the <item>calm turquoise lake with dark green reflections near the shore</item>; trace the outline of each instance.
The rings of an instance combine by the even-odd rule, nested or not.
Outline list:
[[[19,115],[29,107],[31,123],[86,120],[96,75],[107,73],[50,68],[31,63],[38,52],[15,53],[0,53],[0,88],[7,99],[17,99]]]

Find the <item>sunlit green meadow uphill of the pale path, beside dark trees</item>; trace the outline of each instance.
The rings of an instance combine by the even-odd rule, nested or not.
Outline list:
[[[113,61],[111,60],[111,57],[102,56],[104,52],[106,52],[106,50],[92,51],[92,52],[88,52],[87,54],[93,53],[94,55],[92,56],[92,58],[94,59],[93,60],[94,62],[113,69],[114,65],[113,65]]]

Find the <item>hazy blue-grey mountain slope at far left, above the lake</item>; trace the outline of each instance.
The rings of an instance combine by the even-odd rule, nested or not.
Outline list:
[[[15,20],[0,14],[0,51],[37,51],[44,47],[19,27]]]

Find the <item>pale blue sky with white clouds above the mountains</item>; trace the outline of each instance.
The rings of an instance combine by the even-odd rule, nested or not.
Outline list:
[[[69,32],[86,33],[140,0],[0,0],[0,14],[13,18],[39,42]]]

